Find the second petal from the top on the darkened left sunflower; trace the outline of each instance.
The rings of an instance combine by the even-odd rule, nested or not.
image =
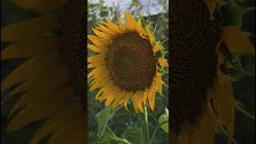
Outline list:
[[[38,38],[52,30],[58,30],[61,22],[56,18],[42,17],[16,22],[1,29],[2,42],[21,42]]]

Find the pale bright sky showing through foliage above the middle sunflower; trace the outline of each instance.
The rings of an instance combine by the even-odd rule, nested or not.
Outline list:
[[[98,3],[98,1],[99,0],[90,0],[91,3]],[[104,0],[104,6],[117,7],[119,13],[124,13],[127,11],[131,2],[132,0]],[[142,4],[142,16],[158,14],[163,10],[162,5],[158,4],[158,0],[139,0],[139,2]]]

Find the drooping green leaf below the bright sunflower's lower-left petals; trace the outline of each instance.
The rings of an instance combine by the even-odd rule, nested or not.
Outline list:
[[[96,118],[98,119],[98,135],[99,138],[102,136],[102,133],[104,132],[106,128],[106,123],[110,121],[111,118],[114,117],[114,114],[120,109],[120,106],[118,106],[115,110],[112,109],[111,106],[108,106],[98,112],[96,114]]]

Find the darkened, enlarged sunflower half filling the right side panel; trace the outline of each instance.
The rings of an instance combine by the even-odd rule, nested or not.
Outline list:
[[[218,128],[228,143],[234,134],[234,94],[230,76],[222,73],[225,55],[254,53],[236,26],[218,26],[218,1],[170,1],[170,142],[214,142]]]

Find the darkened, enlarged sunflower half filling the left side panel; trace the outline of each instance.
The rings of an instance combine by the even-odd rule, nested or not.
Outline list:
[[[22,93],[10,111],[7,132],[46,118],[30,143],[86,143],[86,1],[19,0],[27,10],[51,11],[1,30],[1,60],[25,58],[1,83],[1,92],[18,84],[2,106]],[[10,117],[12,116],[13,117]]]

